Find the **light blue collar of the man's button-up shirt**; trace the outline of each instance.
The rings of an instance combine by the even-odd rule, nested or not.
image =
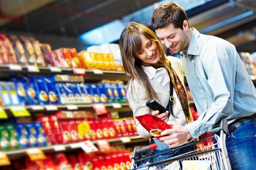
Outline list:
[[[198,56],[199,52],[198,52],[198,38],[200,36],[200,33],[198,32],[198,30],[196,30],[196,28],[192,27],[192,35],[191,35],[191,39],[189,42],[189,46],[188,46],[188,52],[180,52],[180,54],[182,56]]]

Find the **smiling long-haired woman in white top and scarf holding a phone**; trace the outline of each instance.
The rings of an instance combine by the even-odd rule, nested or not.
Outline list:
[[[183,126],[192,122],[183,84],[181,61],[165,56],[156,34],[145,25],[132,22],[123,29],[119,46],[123,67],[129,80],[127,99],[133,110],[133,116],[150,113],[166,122],[171,120]],[[146,101],[155,99],[163,107],[167,107],[170,99],[170,80],[174,87],[173,114],[175,116],[168,116],[168,111],[160,114],[158,110],[153,111],[146,106]],[[150,133],[142,127],[138,120],[135,119],[135,121],[139,135],[150,139]],[[166,141],[165,143],[168,144]],[[155,154],[159,152],[157,149]],[[181,150],[180,154],[182,152],[188,152],[188,150]],[[161,156],[161,158],[154,158],[153,161],[170,157],[170,155]]]

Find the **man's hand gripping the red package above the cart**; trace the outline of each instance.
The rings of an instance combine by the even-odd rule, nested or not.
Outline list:
[[[160,137],[160,141],[164,141],[171,148],[186,143],[192,137],[188,129],[177,122],[168,121],[167,124],[170,124],[173,128],[162,131],[161,136],[163,137]]]

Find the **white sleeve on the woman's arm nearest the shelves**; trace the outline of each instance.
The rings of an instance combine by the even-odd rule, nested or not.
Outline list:
[[[146,91],[137,80],[130,82],[129,88],[127,89],[127,100],[129,102],[129,106],[133,110],[134,118],[136,116],[150,113],[150,109],[146,106]],[[140,124],[136,118],[135,122],[137,133],[140,135],[140,137],[151,137],[150,133]]]

